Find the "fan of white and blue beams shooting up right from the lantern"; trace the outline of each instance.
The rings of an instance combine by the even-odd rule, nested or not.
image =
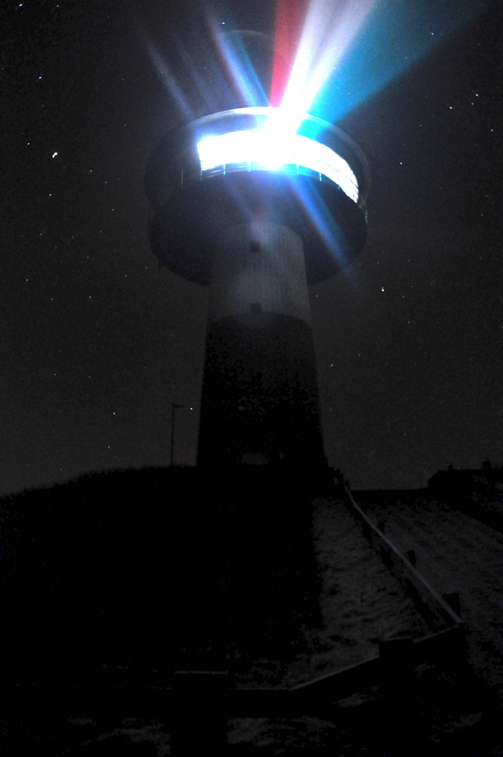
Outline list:
[[[280,0],[276,0],[280,2]],[[288,83],[276,82],[274,105],[338,122],[479,14],[489,0],[306,0]],[[283,0],[288,6],[289,0]],[[289,16],[286,15],[289,23]],[[280,30],[283,31],[284,30]],[[287,34],[287,32],[286,32]],[[282,37],[276,31],[281,55]],[[291,49],[291,48],[289,48]],[[279,61],[275,61],[280,69]],[[273,84],[274,84],[273,80]],[[283,97],[280,84],[285,88]]]

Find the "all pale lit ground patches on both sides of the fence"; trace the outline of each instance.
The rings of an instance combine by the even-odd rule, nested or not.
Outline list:
[[[399,501],[393,494],[386,500],[380,496],[373,501],[368,494],[360,501],[373,522],[384,523],[386,535],[398,549],[416,550],[417,569],[433,587],[440,593],[459,591],[461,615],[467,621],[470,663],[503,694],[503,536],[424,493]],[[251,661],[248,668],[236,673],[239,687],[290,687],[376,656],[377,640],[417,638],[433,630],[364,539],[344,503],[322,498],[314,501],[313,536],[322,579],[323,629],[305,629],[309,652],[289,664],[270,659]],[[326,748],[330,754],[345,757],[384,757],[386,749],[377,747],[367,732],[355,727],[358,704],[366,696],[371,698],[372,692],[339,702],[347,717],[339,716],[337,722],[313,717],[233,719],[229,743],[236,747],[236,755],[250,750],[255,753],[257,748],[263,757],[295,749]],[[143,751],[164,757],[170,752],[167,724],[135,718],[95,722],[86,715],[74,713],[64,722],[52,724],[61,736],[54,742],[55,755],[134,755]],[[435,722],[432,718],[433,737],[447,728],[462,732],[465,726],[476,723],[481,713],[460,714],[453,709],[448,717],[448,725],[447,715]],[[2,727],[9,727],[8,719],[3,718]],[[36,724],[30,722],[28,731],[35,728]],[[43,731],[41,727],[41,747]],[[33,733],[30,753],[39,752],[36,743],[37,734]],[[498,753],[484,751],[480,757]]]

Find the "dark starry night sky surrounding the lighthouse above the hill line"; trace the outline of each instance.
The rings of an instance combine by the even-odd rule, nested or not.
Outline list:
[[[503,8],[375,5],[311,109],[367,155],[369,238],[311,306],[330,464],[353,488],[415,488],[503,462]],[[205,111],[208,17],[272,33],[273,11],[3,12],[0,494],[168,465],[171,402],[174,463],[195,464],[208,294],[151,253],[143,172]]]

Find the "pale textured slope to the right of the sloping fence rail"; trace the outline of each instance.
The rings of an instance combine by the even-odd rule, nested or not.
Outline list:
[[[399,550],[416,550],[433,587],[460,593],[470,662],[503,696],[503,534],[423,494],[362,505]]]

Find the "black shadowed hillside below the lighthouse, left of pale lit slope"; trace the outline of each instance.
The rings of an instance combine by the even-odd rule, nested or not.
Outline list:
[[[5,498],[0,678],[122,666],[140,682],[236,650],[293,655],[317,622],[307,487],[262,466],[146,469]]]

